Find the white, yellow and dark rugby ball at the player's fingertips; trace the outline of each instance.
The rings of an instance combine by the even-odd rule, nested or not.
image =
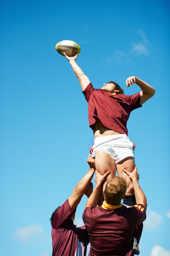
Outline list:
[[[61,42],[55,45],[55,49],[58,53],[64,56],[63,52],[66,53],[69,57],[79,54],[80,47],[77,43],[71,40],[62,40]]]

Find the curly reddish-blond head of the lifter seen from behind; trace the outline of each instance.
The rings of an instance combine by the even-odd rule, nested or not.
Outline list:
[[[114,177],[106,183],[104,198],[107,204],[119,205],[126,193],[127,184],[124,178]]]

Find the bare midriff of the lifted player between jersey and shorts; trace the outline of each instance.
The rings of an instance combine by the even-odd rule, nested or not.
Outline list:
[[[95,124],[93,126],[93,130],[94,130],[95,139],[98,138],[98,137],[102,137],[102,136],[119,135],[119,134],[121,134],[121,133],[116,132],[114,130],[108,129],[99,120],[96,120],[96,122],[95,122]]]

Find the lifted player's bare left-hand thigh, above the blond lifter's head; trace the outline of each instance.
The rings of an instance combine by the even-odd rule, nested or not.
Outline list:
[[[98,151],[95,155],[95,167],[101,175],[110,171],[110,178],[115,177],[116,174],[116,164],[113,157],[104,151]]]

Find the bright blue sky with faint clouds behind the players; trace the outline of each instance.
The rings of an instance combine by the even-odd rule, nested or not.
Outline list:
[[[133,111],[139,183],[148,200],[141,256],[170,256],[170,5],[152,1],[0,3],[0,205],[2,256],[50,256],[49,218],[88,171],[93,144],[78,79],[55,45],[73,40],[95,88],[128,76],[156,93]],[[83,225],[86,197],[75,222]]]

